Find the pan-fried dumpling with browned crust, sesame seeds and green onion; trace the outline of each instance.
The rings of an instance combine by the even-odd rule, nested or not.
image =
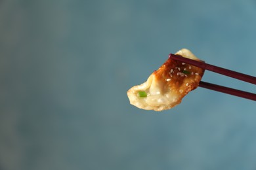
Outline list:
[[[182,49],[176,54],[201,61],[190,50]],[[167,59],[163,65],[148,77],[148,80],[128,90],[131,105],[145,110],[167,110],[179,105],[182,98],[196,89],[203,76],[200,67]]]

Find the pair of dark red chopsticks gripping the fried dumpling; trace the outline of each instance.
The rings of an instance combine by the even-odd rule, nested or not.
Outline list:
[[[207,64],[203,61],[196,61],[194,59],[184,58],[182,56],[175,55],[175,54],[169,54],[169,58],[175,59],[177,61],[182,61],[184,63],[188,63],[190,65],[194,65],[196,67],[200,67],[200,68],[205,69],[205,70],[213,71],[213,72],[219,73],[221,75],[230,76],[232,78],[236,78],[236,79],[242,80],[244,82],[249,82],[251,84],[256,84],[256,77],[255,76],[245,75],[243,73],[238,73],[236,71],[232,71],[232,70],[224,69],[224,68],[221,68],[221,67],[217,67],[215,65]],[[207,88],[209,90],[215,90],[217,92],[228,93],[230,95],[236,95],[238,97],[243,97],[245,99],[251,99],[251,100],[256,101],[256,94],[255,93],[244,92],[244,91],[241,91],[241,90],[236,90],[236,89],[233,89],[233,88],[227,88],[227,87],[224,87],[224,86],[219,86],[217,84],[211,84],[209,82],[202,82],[202,81],[200,82],[199,86],[202,87],[202,88]]]

